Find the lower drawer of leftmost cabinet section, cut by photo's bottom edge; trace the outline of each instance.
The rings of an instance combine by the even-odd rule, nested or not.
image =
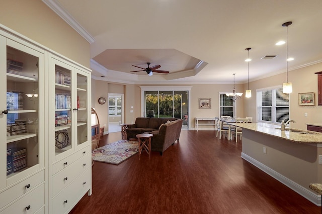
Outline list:
[[[40,185],[24,197],[4,209],[1,214],[35,213],[45,204],[45,184]],[[28,208],[27,208],[28,207]]]

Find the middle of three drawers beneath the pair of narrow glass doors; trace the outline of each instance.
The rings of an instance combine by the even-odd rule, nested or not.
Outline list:
[[[91,167],[91,165],[91,155],[87,154],[54,175],[52,178],[52,197],[65,188],[69,183],[73,182],[76,177]]]

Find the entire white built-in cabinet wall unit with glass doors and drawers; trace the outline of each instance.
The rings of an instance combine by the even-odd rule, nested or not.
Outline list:
[[[92,194],[91,71],[0,25],[0,73],[0,214],[68,213]]]

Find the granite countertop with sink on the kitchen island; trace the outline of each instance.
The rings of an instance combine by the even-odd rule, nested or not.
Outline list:
[[[252,131],[261,132],[263,134],[279,137],[296,143],[322,143],[322,133],[301,130],[303,132],[309,132],[312,134],[301,134],[290,131],[281,131],[280,125],[268,124],[268,123],[229,123],[227,124],[234,125],[240,128],[249,129]]]

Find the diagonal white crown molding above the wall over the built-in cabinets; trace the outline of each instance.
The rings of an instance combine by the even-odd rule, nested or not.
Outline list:
[[[95,39],[60,5],[57,0],[42,0],[53,12],[70,25],[79,35],[84,37],[90,44]]]

